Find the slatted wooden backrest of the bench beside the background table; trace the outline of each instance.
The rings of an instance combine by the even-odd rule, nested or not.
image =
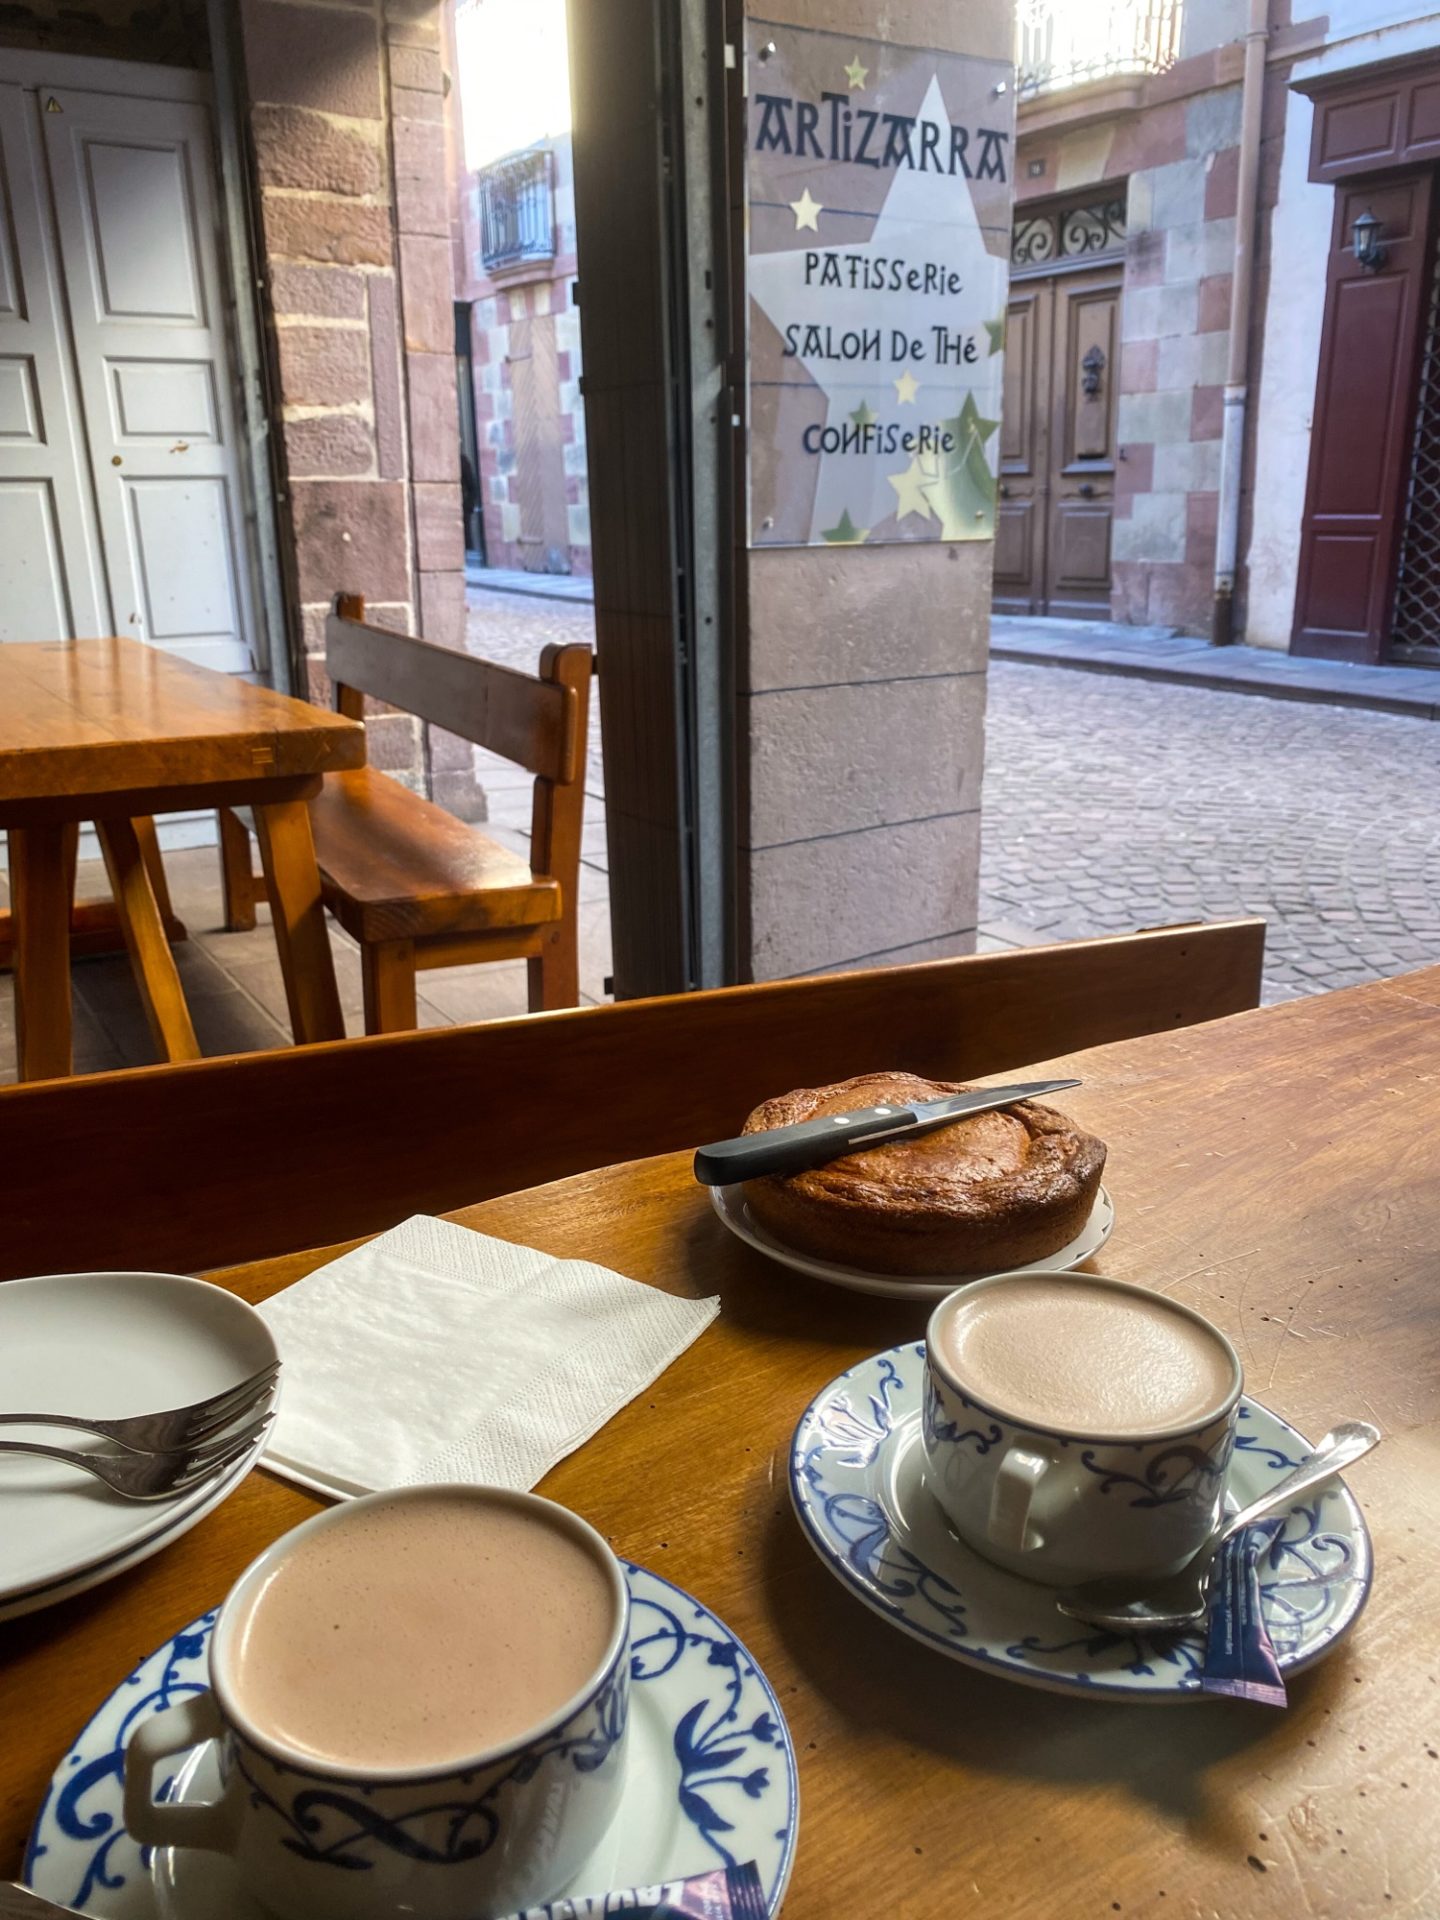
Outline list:
[[[336,593],[324,624],[324,664],[336,707],[365,716],[365,695],[488,747],[540,780],[584,778],[589,647],[545,647],[540,678],[495,660],[371,626],[359,593]]]

